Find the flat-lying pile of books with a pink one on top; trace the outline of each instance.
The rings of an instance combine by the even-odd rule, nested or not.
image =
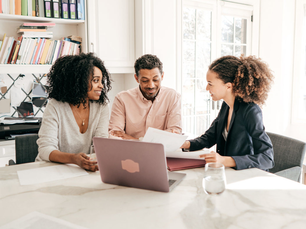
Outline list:
[[[54,27],[55,23],[23,23],[17,28],[17,33],[23,38],[52,38],[52,31],[47,31],[48,27]]]

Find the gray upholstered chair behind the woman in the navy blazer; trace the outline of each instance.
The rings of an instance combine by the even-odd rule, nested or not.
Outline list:
[[[300,182],[306,143],[275,133],[267,134],[274,151],[274,167],[269,172]]]

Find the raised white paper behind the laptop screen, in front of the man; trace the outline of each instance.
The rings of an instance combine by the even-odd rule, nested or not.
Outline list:
[[[142,141],[161,143],[164,145],[165,152],[173,152],[181,147],[187,137],[186,135],[149,127]]]

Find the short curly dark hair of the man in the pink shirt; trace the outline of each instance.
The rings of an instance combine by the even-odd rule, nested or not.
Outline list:
[[[162,62],[155,55],[145,54],[140,56],[134,64],[136,76],[139,76],[140,69],[153,69],[157,67],[159,69],[160,75],[162,75]]]

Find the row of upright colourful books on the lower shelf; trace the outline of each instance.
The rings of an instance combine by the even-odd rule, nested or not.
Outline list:
[[[73,36],[70,36],[73,37]],[[0,41],[0,64],[53,64],[61,56],[78,55],[80,42],[70,38],[24,38],[4,35]]]

